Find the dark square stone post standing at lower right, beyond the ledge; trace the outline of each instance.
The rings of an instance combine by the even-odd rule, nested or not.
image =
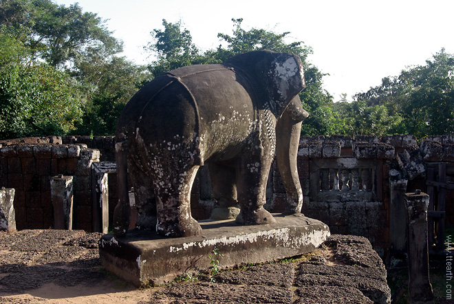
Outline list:
[[[429,195],[416,190],[405,193],[407,208],[407,254],[409,263],[409,300],[407,303],[433,303],[429,281],[429,247],[427,245],[427,208]]]

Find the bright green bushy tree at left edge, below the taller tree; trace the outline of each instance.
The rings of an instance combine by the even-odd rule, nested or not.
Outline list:
[[[49,65],[0,70],[0,138],[64,135],[80,119],[69,77]]]

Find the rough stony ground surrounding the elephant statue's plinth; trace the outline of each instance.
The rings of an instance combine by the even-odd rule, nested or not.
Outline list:
[[[100,236],[0,232],[0,303],[386,303],[391,296],[380,258],[361,237],[332,236],[303,257],[137,288],[101,267]]]

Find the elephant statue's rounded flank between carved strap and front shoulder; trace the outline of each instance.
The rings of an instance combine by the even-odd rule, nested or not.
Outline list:
[[[237,155],[257,124],[252,87],[234,69],[221,67],[181,78],[197,105],[205,160]]]

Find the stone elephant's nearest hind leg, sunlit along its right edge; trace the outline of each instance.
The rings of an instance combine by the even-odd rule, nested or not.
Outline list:
[[[199,166],[186,171],[167,169],[162,172],[166,178],[155,182],[158,235],[190,237],[202,234],[199,223],[191,216],[191,188],[198,169]]]

